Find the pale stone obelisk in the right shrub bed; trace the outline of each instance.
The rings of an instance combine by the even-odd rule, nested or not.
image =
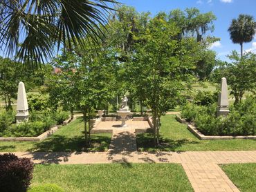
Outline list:
[[[219,93],[217,117],[228,115],[228,85],[225,77],[221,78],[221,93]]]

